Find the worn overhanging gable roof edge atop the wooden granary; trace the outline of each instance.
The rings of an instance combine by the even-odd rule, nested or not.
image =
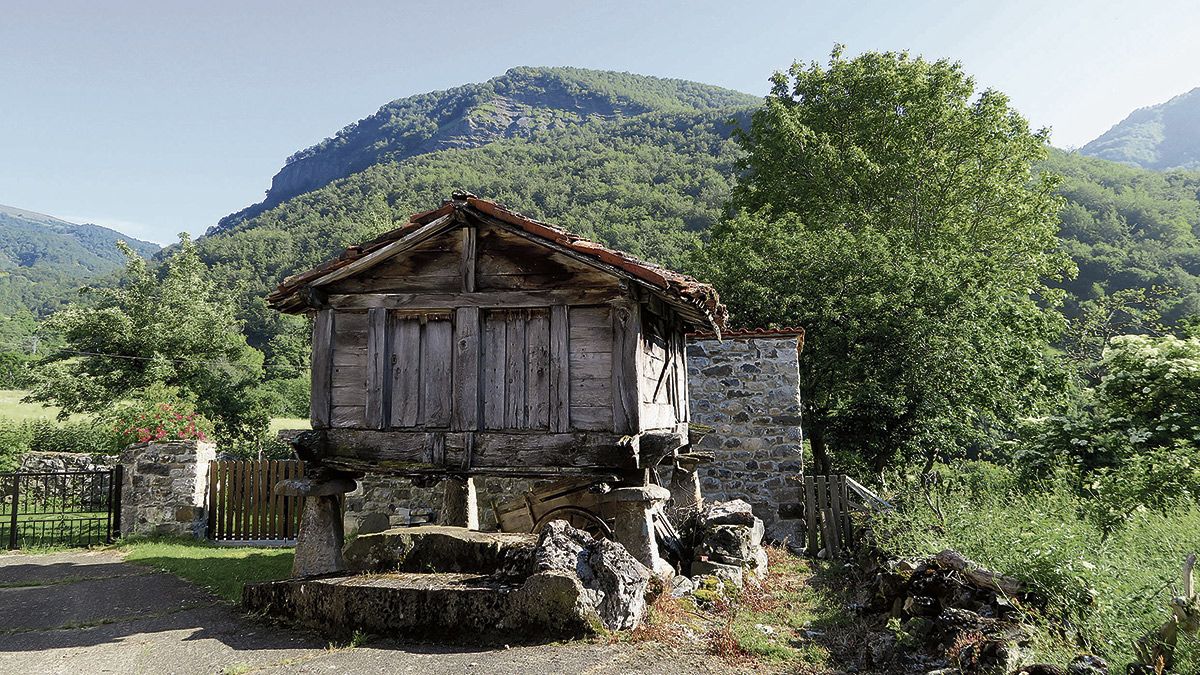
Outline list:
[[[442,207],[414,214],[408,223],[365,244],[350,246],[337,258],[313,269],[289,276],[268,295],[268,303],[276,310],[288,313],[308,311],[310,298],[313,292],[319,293],[320,286],[365,271],[392,256],[401,255],[420,241],[461,227],[468,219],[502,227],[581,263],[632,282],[661,299],[692,327],[701,330],[720,335],[725,328],[727,312],[712,286],[468,193],[455,193],[454,198]]]

